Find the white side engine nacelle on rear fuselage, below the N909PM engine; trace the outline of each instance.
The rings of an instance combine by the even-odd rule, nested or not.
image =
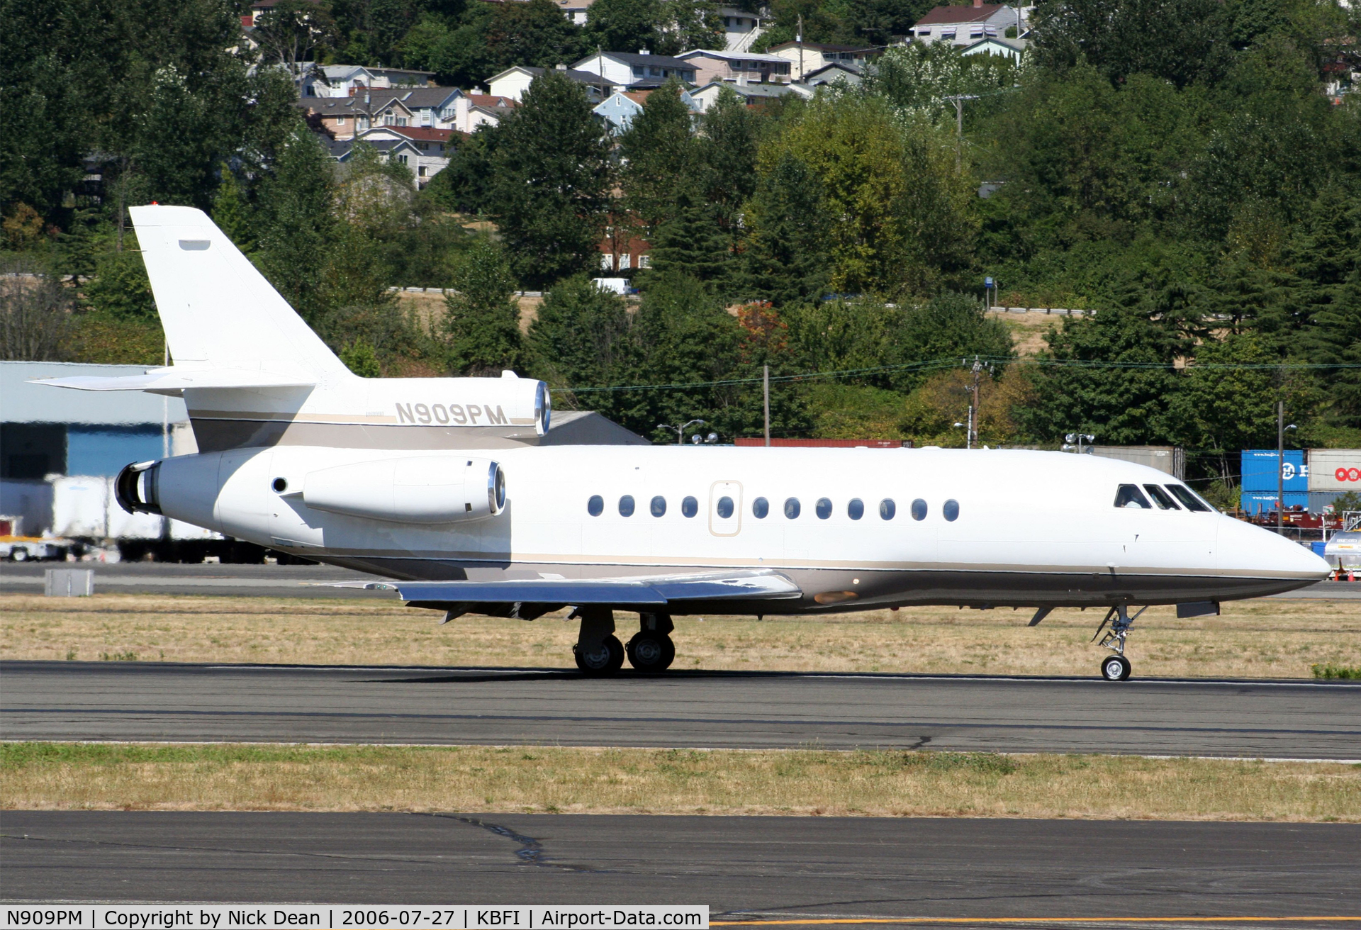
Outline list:
[[[392,523],[455,523],[501,513],[506,479],[501,466],[489,459],[419,456],[310,471],[301,496],[309,508],[328,513]]]

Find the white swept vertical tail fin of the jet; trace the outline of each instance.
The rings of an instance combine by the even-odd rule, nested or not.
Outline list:
[[[351,377],[201,210],[131,212],[176,368],[291,372],[313,381]]]

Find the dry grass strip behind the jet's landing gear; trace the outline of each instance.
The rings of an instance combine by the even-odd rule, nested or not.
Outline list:
[[[1094,675],[1101,613],[916,607],[826,617],[683,617],[676,667]],[[576,622],[440,614],[396,602],[101,594],[0,596],[0,658],[318,664],[568,667]],[[629,615],[619,617],[629,635]],[[1141,677],[1308,678],[1312,664],[1361,666],[1361,602],[1249,600],[1221,617],[1138,620]]]

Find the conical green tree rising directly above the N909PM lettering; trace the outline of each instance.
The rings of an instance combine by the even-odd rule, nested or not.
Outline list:
[[[494,376],[523,361],[520,304],[514,276],[487,237],[472,244],[455,272],[457,291],[445,297],[452,366],[460,374]]]

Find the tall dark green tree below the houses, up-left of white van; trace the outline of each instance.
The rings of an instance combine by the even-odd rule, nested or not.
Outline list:
[[[544,72],[497,136],[489,200],[520,279],[543,287],[595,267],[608,207],[610,143],[585,90]]]

